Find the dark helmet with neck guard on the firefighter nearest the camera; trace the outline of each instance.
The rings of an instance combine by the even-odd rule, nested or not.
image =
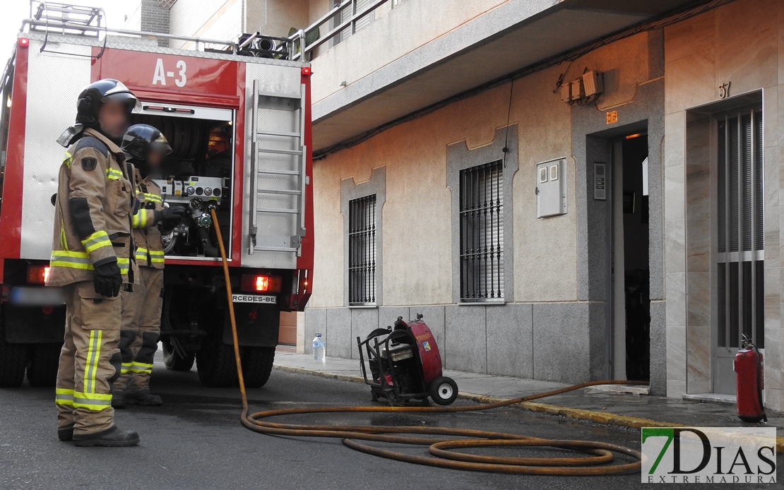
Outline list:
[[[68,147],[82,136],[82,131],[85,128],[100,129],[98,111],[100,111],[101,104],[110,100],[125,101],[128,114],[138,112],[141,109],[139,99],[136,99],[136,96],[122,82],[118,82],[114,78],[103,78],[103,80],[93,82],[79,93],[76,104],[76,124],[66,129],[57,138],[57,143]]]

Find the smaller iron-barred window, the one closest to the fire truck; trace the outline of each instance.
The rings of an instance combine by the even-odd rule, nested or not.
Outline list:
[[[376,304],[376,194],[348,203],[349,305]]]

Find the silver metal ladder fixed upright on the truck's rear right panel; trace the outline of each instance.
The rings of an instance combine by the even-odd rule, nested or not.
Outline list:
[[[270,93],[253,81],[249,253],[296,252],[305,236],[305,85]],[[281,235],[281,230],[291,234]]]

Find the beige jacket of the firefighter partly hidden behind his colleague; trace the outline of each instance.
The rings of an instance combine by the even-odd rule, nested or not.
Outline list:
[[[142,180],[135,171],[136,201],[139,210],[133,215],[133,243],[136,245],[136,264],[163,268],[163,241],[158,230],[156,215],[163,209],[161,189],[150,178]],[[158,212],[156,212],[158,211]]]

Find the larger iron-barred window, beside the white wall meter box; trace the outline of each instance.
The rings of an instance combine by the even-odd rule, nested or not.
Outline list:
[[[503,162],[460,171],[460,300],[503,301]]]

